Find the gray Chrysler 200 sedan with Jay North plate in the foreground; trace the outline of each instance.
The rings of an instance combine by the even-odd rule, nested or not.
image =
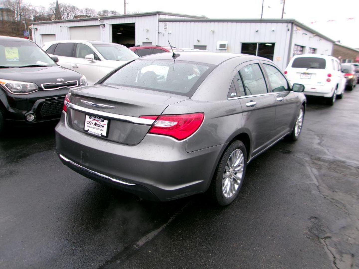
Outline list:
[[[140,198],[208,190],[227,205],[248,162],[283,137],[297,140],[303,90],[265,58],[149,55],[70,89],[56,150],[71,169]]]

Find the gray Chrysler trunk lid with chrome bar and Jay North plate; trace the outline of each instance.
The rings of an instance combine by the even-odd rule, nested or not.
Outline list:
[[[95,135],[88,124],[104,127],[101,138],[135,145],[151,127],[151,120],[142,115],[160,115],[171,104],[186,96],[123,86],[92,85],[70,90],[67,122],[71,128]],[[104,121],[103,121],[104,120]],[[94,127],[94,128],[95,128]],[[98,135],[98,134],[97,134]]]

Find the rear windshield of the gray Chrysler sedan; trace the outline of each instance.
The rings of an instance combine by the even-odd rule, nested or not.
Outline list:
[[[136,60],[102,82],[191,96],[214,65],[178,60]]]

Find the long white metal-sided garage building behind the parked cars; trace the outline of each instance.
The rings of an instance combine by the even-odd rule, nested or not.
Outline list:
[[[197,48],[247,53],[273,60],[281,69],[294,55],[331,55],[334,40],[294,19],[208,19],[166,12],[150,12],[36,22],[33,40],[98,40],[134,45]]]

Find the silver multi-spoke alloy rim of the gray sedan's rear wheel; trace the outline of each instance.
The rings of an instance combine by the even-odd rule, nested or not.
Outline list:
[[[223,173],[222,193],[225,198],[231,198],[241,185],[244,168],[244,155],[236,149],[229,156]]]

